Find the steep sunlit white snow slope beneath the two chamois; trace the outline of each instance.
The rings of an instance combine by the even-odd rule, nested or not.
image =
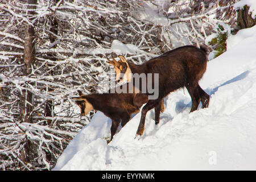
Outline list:
[[[210,94],[209,108],[189,114],[191,98],[186,89],[177,90],[159,125],[149,111],[144,135],[134,139],[138,113],[109,144],[111,121],[98,111],[54,170],[256,170],[255,31],[231,36],[228,51],[209,61],[200,81]]]

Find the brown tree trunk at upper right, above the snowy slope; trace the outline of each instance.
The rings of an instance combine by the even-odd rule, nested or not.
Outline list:
[[[256,19],[251,18],[249,9],[250,7],[245,5],[243,9],[237,10],[237,27],[239,30],[253,27],[256,24]]]

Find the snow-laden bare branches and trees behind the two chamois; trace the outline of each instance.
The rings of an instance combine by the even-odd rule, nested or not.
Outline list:
[[[185,45],[221,55],[229,35],[256,23],[237,2],[0,1],[0,170],[55,167],[96,113],[81,117],[71,97],[109,89],[112,53],[137,64]]]

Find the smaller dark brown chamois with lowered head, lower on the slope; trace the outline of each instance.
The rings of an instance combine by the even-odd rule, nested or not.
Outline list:
[[[114,91],[109,90],[108,93],[102,94],[84,95],[78,90],[79,97],[72,97],[73,100],[76,100],[75,103],[80,107],[81,115],[87,115],[89,111],[96,109],[112,119],[110,141],[113,139],[120,123],[122,127],[125,126],[130,120],[131,115],[138,113],[141,106],[148,101],[148,97],[145,94],[139,93],[139,90],[135,87],[129,88],[129,86],[126,85],[126,93],[117,93],[117,89],[122,89],[122,86],[114,88]],[[128,89],[133,90],[129,92]]]

